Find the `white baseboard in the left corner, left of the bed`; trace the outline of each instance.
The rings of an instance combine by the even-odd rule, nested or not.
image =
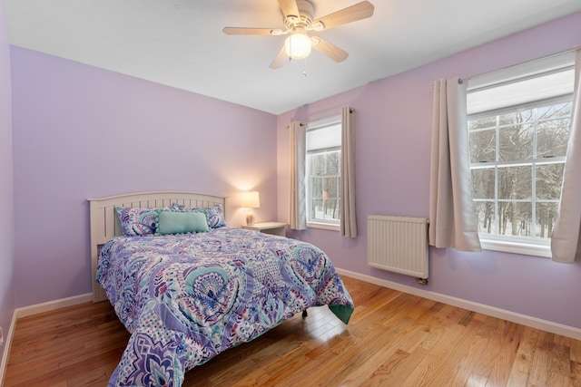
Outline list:
[[[16,321],[19,318],[26,317],[33,314],[39,314],[44,312],[50,312],[56,309],[64,308],[66,306],[73,306],[84,304],[93,301],[93,293],[87,293],[85,295],[74,295],[73,297],[62,298],[60,300],[49,301],[43,304],[30,305],[21,308],[16,308],[14,314],[12,314],[12,322],[10,323],[10,328],[8,328],[8,333],[5,335],[5,350],[2,356],[2,363],[0,363],[0,386],[4,386],[4,376],[6,372],[6,367],[8,366],[8,356],[10,354],[10,347],[12,346],[12,338],[16,329]]]

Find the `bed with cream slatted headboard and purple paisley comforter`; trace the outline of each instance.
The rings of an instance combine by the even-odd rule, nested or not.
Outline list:
[[[94,301],[130,332],[110,386],[184,373],[311,306],[348,324],[353,303],[318,247],[228,227],[227,198],[146,192],[89,199]]]

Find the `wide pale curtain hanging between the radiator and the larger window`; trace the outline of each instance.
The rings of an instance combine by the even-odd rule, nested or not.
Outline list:
[[[466,85],[458,78],[434,85],[429,184],[429,244],[482,251],[469,169]]]

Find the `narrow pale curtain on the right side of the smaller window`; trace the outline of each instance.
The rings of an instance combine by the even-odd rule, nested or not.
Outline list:
[[[355,111],[341,109],[341,237],[357,237],[355,214]]]

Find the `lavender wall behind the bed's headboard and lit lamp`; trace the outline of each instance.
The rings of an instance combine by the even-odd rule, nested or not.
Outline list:
[[[91,292],[87,198],[237,196],[276,216],[276,116],[12,47],[15,305]]]

